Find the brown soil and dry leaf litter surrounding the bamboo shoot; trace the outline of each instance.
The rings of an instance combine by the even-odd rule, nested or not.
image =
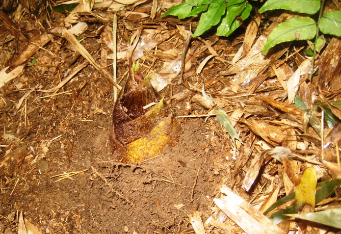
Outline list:
[[[216,200],[226,195],[221,188],[264,212],[277,197],[293,192],[306,168],[314,168],[317,181],[341,177],[338,151],[333,144],[322,149],[318,127],[304,123],[303,111],[288,97],[293,94],[288,90],[296,89],[294,95],[310,110],[316,107],[313,100],[340,99],[340,70],[331,68],[341,64],[339,39],[318,56],[320,73],[309,81],[303,72],[309,60],[305,42],[276,46],[267,57],[260,54],[262,36],[290,13],[272,16],[274,22],[261,19],[263,35],[258,30],[245,35],[249,20],[229,38],[213,33],[192,38],[183,77],[195,88],[188,90],[178,81],[189,20],[160,18],[160,12],[151,19],[151,1],[136,6],[108,1],[69,16],[34,1],[20,2],[9,1],[1,9],[2,19],[7,15],[9,21],[0,22],[0,74],[5,77],[8,66],[13,72],[0,82],[0,233],[22,231],[23,220],[33,233],[200,233],[192,227],[197,212],[207,233],[241,233],[244,228],[221,212]],[[140,61],[142,75],[149,75],[153,85],[164,87],[160,95],[179,124],[174,142],[140,163],[117,160],[109,139],[115,102],[103,70],[113,74],[114,12],[118,84],[130,69],[129,39],[143,22],[133,60]],[[70,45],[59,25],[80,30],[76,37],[97,68]],[[28,50],[31,54],[23,52]],[[301,76],[293,85],[288,80],[297,69]],[[204,97],[203,85],[212,100]],[[211,115],[217,107],[230,117],[240,141],[232,141]],[[316,116],[321,120],[320,113]],[[333,137],[338,126],[325,126],[328,143],[338,144]],[[270,151],[274,148],[281,151]],[[271,157],[291,152],[303,160]],[[339,205],[339,196],[335,190],[324,205]],[[298,230],[291,221],[281,228]]]

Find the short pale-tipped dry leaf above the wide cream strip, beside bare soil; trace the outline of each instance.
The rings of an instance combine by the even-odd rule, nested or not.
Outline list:
[[[250,167],[246,170],[242,188],[249,191],[254,181],[258,177],[260,167],[263,165],[264,157],[262,154],[256,154],[252,159]]]

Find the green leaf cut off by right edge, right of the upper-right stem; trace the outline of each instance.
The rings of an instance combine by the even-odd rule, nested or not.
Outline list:
[[[324,14],[320,20],[320,31],[341,37],[341,11],[331,11]]]

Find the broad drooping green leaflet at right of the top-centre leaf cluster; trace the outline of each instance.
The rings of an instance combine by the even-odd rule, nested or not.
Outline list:
[[[221,19],[220,25],[217,28],[218,36],[225,36],[231,30],[231,24],[245,9],[245,3],[230,5],[226,8],[226,14]]]

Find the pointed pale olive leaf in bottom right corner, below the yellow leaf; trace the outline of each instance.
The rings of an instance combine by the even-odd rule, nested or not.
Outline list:
[[[341,228],[341,209],[330,209],[307,214],[287,214],[287,216]]]

